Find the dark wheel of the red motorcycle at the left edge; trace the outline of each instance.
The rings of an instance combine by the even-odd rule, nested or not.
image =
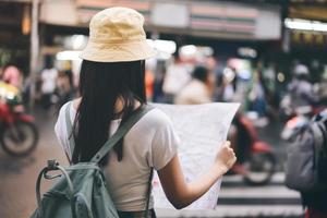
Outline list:
[[[4,152],[22,157],[36,148],[38,132],[34,123],[17,121],[3,129],[0,141]]]

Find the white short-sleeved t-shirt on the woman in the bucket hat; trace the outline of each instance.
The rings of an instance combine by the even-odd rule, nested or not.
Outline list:
[[[65,125],[65,108],[62,106],[55,126],[57,137],[69,158],[72,157],[69,147]],[[73,122],[76,114],[71,105],[70,117]],[[112,135],[120,124],[113,120],[110,125]],[[180,140],[175,134],[171,121],[159,109],[146,113],[124,136],[123,158],[117,160],[114,152],[109,153],[109,162],[105,167],[111,197],[120,211],[140,211],[146,206],[146,192],[150,168],[164,168],[177,153]],[[150,208],[153,208],[153,196]]]

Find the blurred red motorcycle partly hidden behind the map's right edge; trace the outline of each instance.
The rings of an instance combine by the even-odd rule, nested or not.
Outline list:
[[[235,134],[232,136],[238,161],[231,168],[231,173],[242,174],[251,185],[268,183],[275,172],[276,158],[271,146],[259,141],[258,134],[251,120],[238,114],[232,126]]]

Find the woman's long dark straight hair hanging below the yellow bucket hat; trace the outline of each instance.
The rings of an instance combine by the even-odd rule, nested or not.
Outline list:
[[[109,137],[110,123],[122,122],[135,109],[135,99],[146,104],[144,61],[102,63],[83,60],[80,74],[78,106],[73,134],[75,148],[72,162],[89,161]],[[116,111],[118,99],[122,111]],[[122,159],[122,140],[114,147],[118,160]],[[104,158],[105,165],[108,158]]]

